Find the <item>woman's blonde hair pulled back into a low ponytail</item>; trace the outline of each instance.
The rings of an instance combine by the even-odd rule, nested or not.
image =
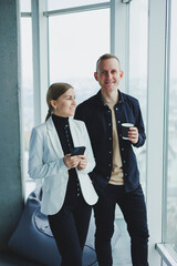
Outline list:
[[[53,106],[51,104],[52,100],[58,100],[62,94],[64,94],[69,89],[73,88],[69,83],[60,82],[60,83],[53,83],[50,85],[48,93],[46,93],[46,103],[48,103],[48,114],[45,117],[45,121],[51,116],[53,113]]]

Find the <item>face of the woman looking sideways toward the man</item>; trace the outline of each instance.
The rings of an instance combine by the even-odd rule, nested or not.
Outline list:
[[[73,116],[76,108],[74,90],[71,88],[58,100],[52,100],[53,113],[58,116]]]

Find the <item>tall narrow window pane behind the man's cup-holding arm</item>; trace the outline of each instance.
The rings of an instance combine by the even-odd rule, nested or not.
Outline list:
[[[129,91],[138,99],[144,123],[146,125],[147,105],[147,35],[148,35],[148,0],[131,2],[129,10]],[[140,183],[146,185],[146,144],[135,149],[137,154]]]

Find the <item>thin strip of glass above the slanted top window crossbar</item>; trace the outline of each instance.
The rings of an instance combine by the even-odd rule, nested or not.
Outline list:
[[[102,3],[102,2],[110,2],[108,0],[48,0],[48,10],[58,10],[58,9],[66,9],[66,8],[74,8],[81,7],[86,4],[93,3]]]

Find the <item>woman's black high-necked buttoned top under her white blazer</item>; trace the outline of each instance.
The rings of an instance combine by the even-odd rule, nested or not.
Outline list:
[[[74,147],[74,145],[69,125],[69,117],[62,117],[52,114],[52,120],[56,129],[64,155],[71,153],[71,149]],[[81,190],[76,171],[75,168],[71,168],[69,170],[69,183],[65,198],[74,198],[79,196]]]

